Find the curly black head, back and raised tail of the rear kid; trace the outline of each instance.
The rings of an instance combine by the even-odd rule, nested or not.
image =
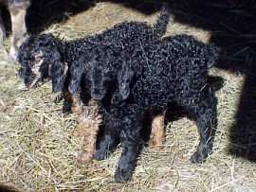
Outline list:
[[[84,64],[79,61],[81,56],[89,54],[101,44],[115,46],[119,54],[126,48],[132,49],[135,44],[160,39],[166,30],[169,14],[169,5],[164,3],[155,26],[145,22],[122,22],[99,34],[73,41],[61,41],[51,34],[30,36],[19,48],[19,76],[27,87],[34,87],[50,78],[53,92],[61,91],[68,85],[71,76],[70,92],[74,93],[79,88],[78,81],[82,76],[77,71]],[[68,65],[67,74],[65,63]]]

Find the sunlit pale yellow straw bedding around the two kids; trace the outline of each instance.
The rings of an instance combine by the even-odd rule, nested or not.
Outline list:
[[[98,3],[53,23],[44,32],[64,39],[82,37],[123,20],[155,21],[118,4]],[[171,19],[167,34],[188,33],[208,42],[210,32]],[[5,47],[9,41],[5,42]],[[245,83],[243,73],[214,68],[210,74],[224,79],[216,92],[218,130],[213,153],[201,165],[190,157],[199,142],[194,123],[186,117],[166,124],[162,149],[143,148],[132,181],[114,183],[120,150],[103,161],[80,166],[80,139],[73,134],[76,117],[63,113],[63,101],[55,102],[50,82],[27,90],[16,76],[17,66],[0,50],[0,185],[17,191],[255,191],[255,163],[229,154],[229,127]],[[177,112],[173,111],[175,117]]]

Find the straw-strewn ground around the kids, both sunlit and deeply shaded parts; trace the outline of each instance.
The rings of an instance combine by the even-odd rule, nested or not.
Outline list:
[[[34,90],[24,88],[17,77],[18,64],[10,61],[2,48],[0,184],[14,191],[256,191],[256,105],[247,103],[256,98],[255,85],[250,84],[256,77],[253,67],[256,32],[249,31],[253,25],[256,28],[256,16],[251,15],[256,6],[252,4],[245,9],[244,5],[229,1],[209,3],[206,8],[197,5],[195,9],[194,4],[174,8],[166,35],[187,33],[224,48],[220,66],[210,70],[212,76],[222,80],[216,83],[221,84],[216,91],[218,128],[213,152],[206,162],[200,165],[190,162],[199,137],[194,123],[181,117],[166,124],[163,149],[143,148],[133,179],[128,183],[114,183],[113,179],[120,148],[103,161],[80,166],[79,138],[72,135],[74,114],[63,113],[63,101],[56,102],[60,93],[51,93],[50,82]],[[210,8],[221,10],[213,20],[202,16],[208,15]],[[227,14],[221,17],[223,12]],[[236,23],[228,20],[228,13],[230,18],[236,15]],[[65,11],[62,14],[65,18],[62,22],[54,20],[46,26],[38,25],[36,30],[70,40],[101,32],[122,21],[154,24],[158,12],[145,14],[141,9],[102,1],[77,14]],[[238,26],[240,18],[246,17],[254,21],[244,23],[247,30],[246,26]],[[29,21],[33,19],[36,20],[30,16]],[[9,39],[4,46],[9,50]],[[241,62],[244,65],[238,66]]]

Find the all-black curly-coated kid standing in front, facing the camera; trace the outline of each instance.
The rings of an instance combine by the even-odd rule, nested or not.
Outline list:
[[[120,140],[122,153],[115,173],[117,182],[128,181],[141,148],[144,115],[160,113],[169,103],[182,106],[200,133],[192,163],[200,163],[211,151],[216,126],[216,98],[208,83],[208,69],[218,58],[218,48],[192,36],[177,35],[126,49],[115,56],[113,47],[98,47],[83,57],[86,88],[99,100],[105,115],[105,131],[95,158],[101,160]]]

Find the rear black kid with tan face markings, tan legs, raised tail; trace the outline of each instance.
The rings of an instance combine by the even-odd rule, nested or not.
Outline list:
[[[168,4],[163,4],[155,26],[149,26],[144,22],[123,22],[99,34],[72,41],[62,41],[51,34],[41,34],[30,36],[20,46],[19,77],[23,79],[27,88],[34,88],[41,85],[45,79],[51,79],[53,92],[62,91],[64,96],[73,100],[72,110],[78,115],[78,126],[75,132],[82,137],[82,152],[79,156],[82,164],[93,158],[101,116],[97,117],[98,104],[96,102],[89,102],[92,105],[88,104],[90,97],[84,98],[81,88],[72,92],[72,95],[67,91],[68,86],[72,88],[69,79],[76,76],[76,70],[79,69],[80,63],[77,60],[82,56],[90,55],[94,49],[98,50],[101,44],[115,44],[119,54],[127,48],[133,49],[136,44],[160,39],[168,21],[169,7]],[[101,57],[101,51],[97,54]],[[156,133],[157,129],[155,128]]]

